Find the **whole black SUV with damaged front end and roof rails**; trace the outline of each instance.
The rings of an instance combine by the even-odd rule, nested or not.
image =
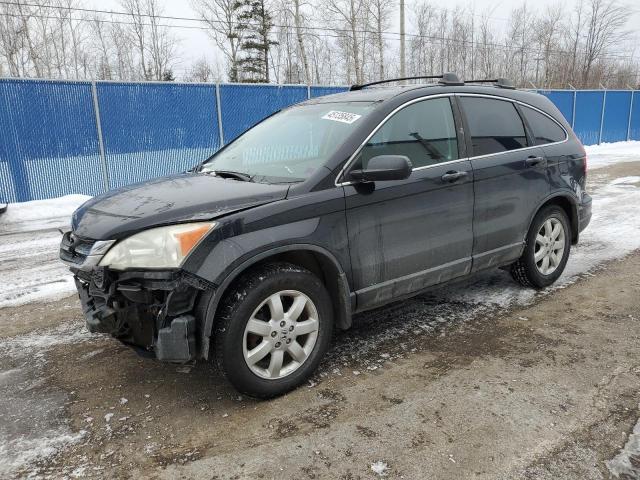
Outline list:
[[[584,148],[541,95],[438,78],[286,108],[82,205],[60,256],[89,330],[267,398],[355,312],[488,268],[553,283],[591,218]]]

